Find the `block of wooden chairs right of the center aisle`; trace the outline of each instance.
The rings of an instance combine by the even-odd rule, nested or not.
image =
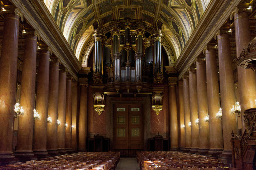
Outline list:
[[[230,169],[230,164],[225,164],[225,159],[215,159],[209,156],[196,155],[183,152],[137,152],[137,162],[141,170],[178,169]],[[192,170],[192,169],[191,169]]]

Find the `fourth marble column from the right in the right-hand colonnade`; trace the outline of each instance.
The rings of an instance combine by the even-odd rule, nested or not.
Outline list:
[[[196,60],[196,87],[199,118],[199,153],[205,154],[209,149],[209,123],[204,122],[208,114],[208,101],[206,89],[205,60]]]

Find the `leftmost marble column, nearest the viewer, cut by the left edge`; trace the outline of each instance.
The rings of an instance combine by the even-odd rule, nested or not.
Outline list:
[[[17,160],[14,159],[12,152],[12,137],[20,16],[15,13],[15,10],[3,15],[4,34],[0,57],[0,162],[6,162],[8,164],[8,162]]]

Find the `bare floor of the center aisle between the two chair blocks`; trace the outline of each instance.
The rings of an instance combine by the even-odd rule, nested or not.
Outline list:
[[[116,170],[140,170],[136,158],[120,158]]]

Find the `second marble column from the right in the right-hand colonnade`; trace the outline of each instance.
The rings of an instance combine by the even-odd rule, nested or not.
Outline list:
[[[234,77],[232,69],[232,59],[230,51],[229,35],[219,30],[218,32],[218,54],[219,54],[219,72],[220,72],[220,94],[222,109],[222,130],[223,146],[222,154],[232,156],[231,142],[232,130],[238,134],[236,115],[231,114],[232,106],[236,103]]]

